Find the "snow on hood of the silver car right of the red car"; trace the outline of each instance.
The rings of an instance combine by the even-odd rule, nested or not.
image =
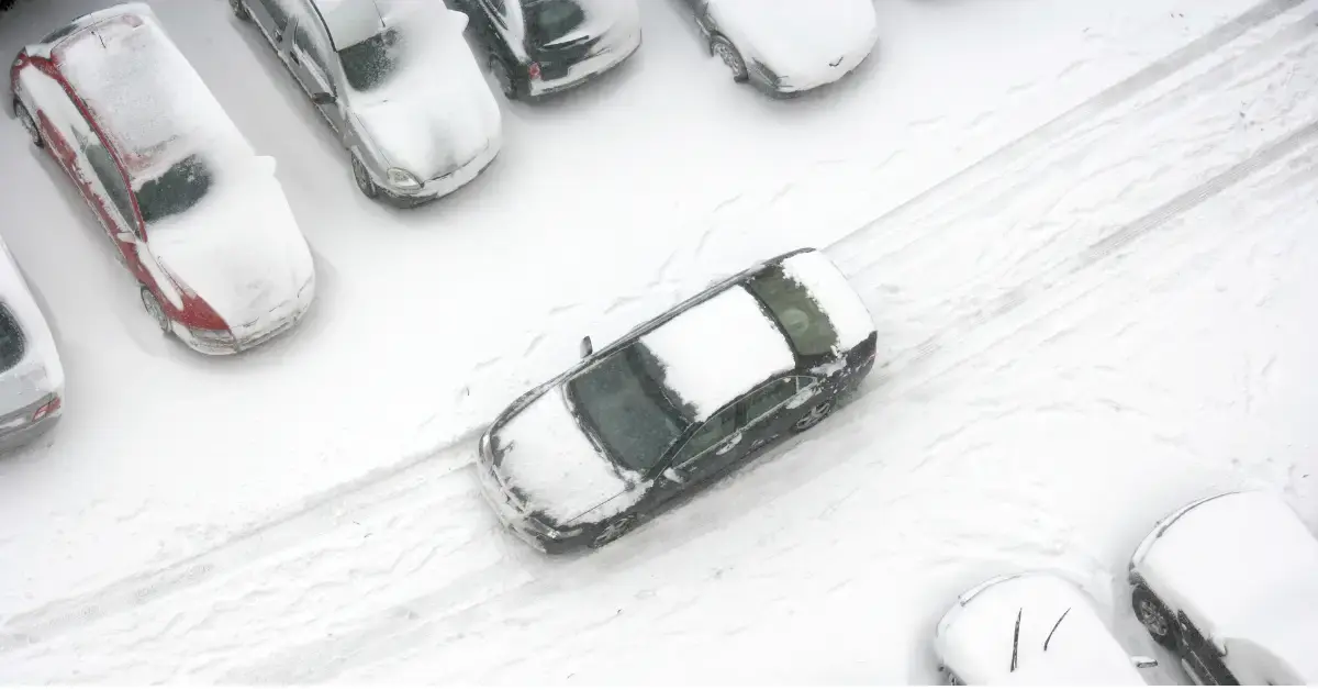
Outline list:
[[[380,154],[424,182],[500,145],[502,115],[463,38],[467,16],[416,7],[390,24],[403,34],[405,63],[380,87],[351,94]]]

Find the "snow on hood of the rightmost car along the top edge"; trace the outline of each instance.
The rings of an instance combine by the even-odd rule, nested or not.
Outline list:
[[[709,9],[747,62],[793,84],[833,80],[833,63],[854,63],[878,38],[873,0],[714,0]]]

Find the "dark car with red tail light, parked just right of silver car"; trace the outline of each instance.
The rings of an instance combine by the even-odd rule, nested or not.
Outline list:
[[[580,86],[641,47],[637,0],[449,0],[469,13],[509,99]]]

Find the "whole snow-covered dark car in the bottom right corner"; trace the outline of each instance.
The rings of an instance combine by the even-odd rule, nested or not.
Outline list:
[[[1131,606],[1199,685],[1318,685],[1318,540],[1264,491],[1164,518],[1130,563]]]

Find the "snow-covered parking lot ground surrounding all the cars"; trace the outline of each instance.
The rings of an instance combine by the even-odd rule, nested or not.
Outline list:
[[[0,53],[104,4],[20,3]],[[931,682],[988,577],[1069,574],[1152,653],[1122,577],[1159,517],[1272,486],[1318,525],[1318,0],[875,0],[874,58],[787,102],[648,0],[629,65],[505,103],[494,166],[411,211],[225,3],[152,5],[278,160],[318,303],[233,359],[162,340],[0,121],[0,232],[67,375],[0,460],[0,679]],[[485,421],[581,335],[804,244],[879,323],[863,397],[598,553],[498,529]]]

